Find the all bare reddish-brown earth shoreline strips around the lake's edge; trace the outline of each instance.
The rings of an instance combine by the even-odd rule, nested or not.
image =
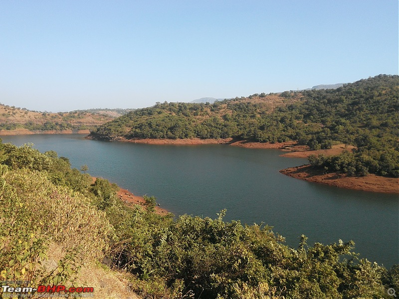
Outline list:
[[[0,131],[3,133],[5,130]],[[30,133],[26,133],[30,132]],[[65,131],[47,131],[47,133],[43,132],[31,132],[23,129],[18,130],[19,134],[3,134],[3,135],[26,135],[26,134],[87,134],[86,130],[81,130],[84,132],[74,133],[72,130]],[[9,131],[9,132],[16,132]],[[85,138],[91,139],[89,136]],[[352,150],[355,147],[350,145],[334,145],[332,149],[319,149],[319,150],[310,150],[307,146],[298,146],[294,141],[288,141],[283,143],[258,143],[258,142],[249,142],[249,141],[234,141],[232,138],[226,139],[134,139],[128,140],[126,138],[115,138],[111,141],[120,141],[120,142],[129,142],[129,143],[139,143],[139,144],[153,144],[153,145],[208,145],[208,144],[224,144],[228,146],[234,147],[242,147],[247,149],[280,149],[282,151],[289,151],[286,153],[282,153],[280,156],[290,157],[290,158],[307,158],[310,154],[324,154],[324,155],[335,155],[341,153],[343,150]],[[371,191],[371,192],[382,192],[382,193],[399,193],[399,180],[397,178],[391,177],[383,177],[378,175],[369,174],[365,177],[352,177],[347,176],[345,174],[338,173],[330,173],[325,174],[322,170],[316,171],[313,169],[309,172],[309,165],[302,165],[296,167],[289,167],[285,169],[281,169],[280,173],[306,180],[309,182],[322,183],[326,185],[337,186],[341,188],[350,188],[355,190],[362,191]],[[126,203],[131,204],[140,204],[144,205],[145,202],[142,196],[136,196],[128,190],[121,189],[122,193],[118,192],[118,196],[126,201]],[[123,194],[128,193],[128,194]],[[129,197],[130,196],[130,197]],[[156,206],[156,210],[160,210],[160,215],[165,215],[168,213],[165,209],[159,208]],[[166,212],[164,212],[166,211]]]

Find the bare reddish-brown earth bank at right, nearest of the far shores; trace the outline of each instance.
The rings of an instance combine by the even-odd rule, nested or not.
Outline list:
[[[280,170],[280,172],[290,177],[329,186],[368,192],[399,194],[399,178],[395,177],[383,177],[375,174],[357,177],[338,172],[323,173],[322,169],[315,169],[309,164],[285,168]]]

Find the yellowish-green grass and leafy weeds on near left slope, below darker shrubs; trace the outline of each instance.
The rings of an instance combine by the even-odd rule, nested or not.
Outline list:
[[[100,259],[111,227],[90,200],[55,186],[29,169],[3,172],[0,189],[0,277],[32,285],[73,283],[80,265]],[[65,255],[53,268],[44,267],[50,243]]]

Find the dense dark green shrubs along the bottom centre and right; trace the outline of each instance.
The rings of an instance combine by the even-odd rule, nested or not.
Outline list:
[[[226,222],[224,212],[173,220],[109,206],[115,229],[109,255],[136,275],[137,291],[156,298],[377,299],[398,285],[397,266],[387,271],[359,260],[352,241],[309,246],[301,236],[291,248],[270,227]]]

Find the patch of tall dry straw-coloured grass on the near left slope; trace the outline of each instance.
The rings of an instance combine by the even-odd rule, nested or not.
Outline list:
[[[32,221],[40,222],[53,241],[64,250],[77,253],[82,263],[102,259],[111,226],[104,212],[91,206],[88,198],[55,187],[37,171],[11,171],[6,180],[32,210]]]

